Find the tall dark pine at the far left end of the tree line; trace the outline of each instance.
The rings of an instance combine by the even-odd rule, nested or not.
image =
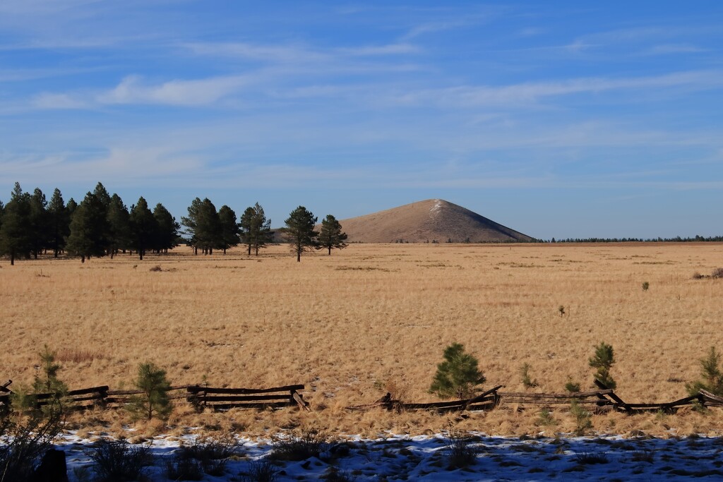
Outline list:
[[[30,195],[23,192],[17,182],[4,208],[0,254],[9,256],[11,265],[17,257],[30,257]]]

